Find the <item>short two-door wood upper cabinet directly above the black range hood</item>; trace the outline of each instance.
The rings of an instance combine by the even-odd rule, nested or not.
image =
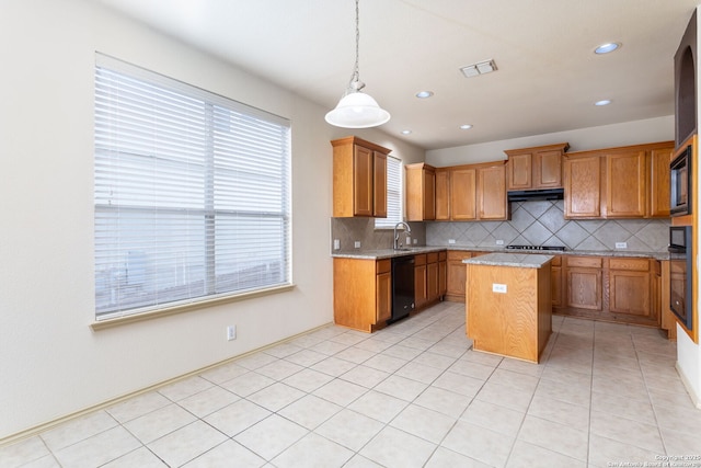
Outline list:
[[[570,144],[509,149],[506,163],[508,190],[558,189],[562,186],[562,156]]]

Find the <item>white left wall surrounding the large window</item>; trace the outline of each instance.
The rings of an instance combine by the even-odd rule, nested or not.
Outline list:
[[[333,320],[329,140],[350,133],[94,3],[0,4],[0,441]],[[294,292],[91,330],[95,50],[291,119]],[[379,130],[356,134],[423,160]]]

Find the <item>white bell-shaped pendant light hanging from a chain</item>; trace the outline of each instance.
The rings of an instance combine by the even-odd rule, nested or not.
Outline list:
[[[360,92],[365,83],[360,81],[358,71],[360,28],[358,1],[355,0],[355,69],[350,76],[348,88],[338,105],[326,114],[326,122],[336,127],[368,128],[382,125],[390,119],[390,113],[379,106],[370,95]]]

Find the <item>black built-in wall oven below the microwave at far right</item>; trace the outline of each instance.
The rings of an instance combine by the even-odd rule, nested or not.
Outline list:
[[[693,327],[691,240],[691,226],[669,228],[669,308],[689,331]]]

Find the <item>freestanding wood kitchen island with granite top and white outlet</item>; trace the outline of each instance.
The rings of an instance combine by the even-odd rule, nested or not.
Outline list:
[[[491,253],[467,264],[467,335],[475,351],[538,363],[552,332],[552,255]]]

